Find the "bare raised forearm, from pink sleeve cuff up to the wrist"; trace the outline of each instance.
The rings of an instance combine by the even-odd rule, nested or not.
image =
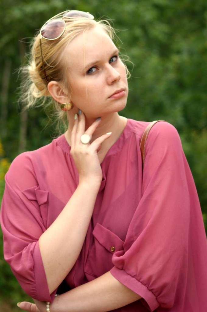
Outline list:
[[[63,211],[39,239],[50,293],[60,285],[79,256],[98,189],[99,185],[79,185]]]

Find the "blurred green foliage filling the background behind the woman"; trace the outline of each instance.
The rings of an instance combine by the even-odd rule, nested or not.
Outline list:
[[[22,121],[21,107],[17,105],[20,85],[17,69],[26,61],[24,55],[29,51],[30,38],[47,19],[66,9],[79,9],[91,12],[96,18],[110,17],[118,29],[120,50],[132,62],[127,61],[132,77],[123,115],[148,121],[165,119],[178,129],[206,224],[207,68],[204,64],[207,62],[207,2],[7,0],[0,6],[0,109],[5,116],[1,120],[0,137],[6,151],[0,163],[0,198],[4,185],[2,177],[20,152]],[[9,64],[6,96],[4,82]],[[25,149],[36,149],[49,143],[55,135],[55,123],[47,119],[46,113],[39,108],[30,110],[27,120]],[[17,282],[2,254],[0,270],[2,296],[16,301],[17,293],[21,293],[20,287],[15,284]]]

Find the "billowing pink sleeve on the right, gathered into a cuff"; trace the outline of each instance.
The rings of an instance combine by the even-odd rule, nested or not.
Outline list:
[[[179,135],[165,122],[153,128],[146,144],[142,199],[124,250],[114,253],[111,269],[115,278],[142,296],[150,311],[170,309],[176,300],[182,305],[188,278],[196,275],[191,251],[196,252],[195,236],[199,239],[200,234],[195,229],[203,228]]]

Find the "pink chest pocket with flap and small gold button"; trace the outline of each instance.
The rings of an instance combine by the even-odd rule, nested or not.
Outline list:
[[[93,230],[84,272],[87,279],[93,280],[111,270],[114,252],[123,250],[123,241],[113,232],[97,223]]]

